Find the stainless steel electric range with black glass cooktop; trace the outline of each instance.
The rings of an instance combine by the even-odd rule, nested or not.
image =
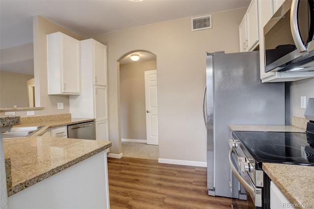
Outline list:
[[[229,163],[256,209],[269,208],[270,179],[262,163],[314,166],[314,122],[306,132],[232,131]],[[231,185],[236,186],[236,185]]]

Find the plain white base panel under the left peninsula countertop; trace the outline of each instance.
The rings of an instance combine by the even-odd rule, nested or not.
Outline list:
[[[109,208],[106,150],[8,197],[8,209]]]

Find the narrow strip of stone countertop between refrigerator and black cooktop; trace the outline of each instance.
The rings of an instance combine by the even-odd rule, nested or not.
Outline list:
[[[268,126],[268,125],[228,125],[231,131],[273,131],[273,132],[305,132],[294,126]]]

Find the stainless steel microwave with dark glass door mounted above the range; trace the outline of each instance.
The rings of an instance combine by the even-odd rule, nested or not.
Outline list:
[[[314,0],[286,0],[263,34],[265,72],[314,70]]]

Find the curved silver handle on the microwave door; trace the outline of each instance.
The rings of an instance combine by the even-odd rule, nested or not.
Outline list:
[[[290,9],[290,28],[292,38],[295,44],[295,47],[299,50],[299,52],[306,52],[307,49],[305,48],[301,35],[299,33],[299,26],[298,26],[298,2],[299,0],[292,0],[291,2],[291,9]]]

